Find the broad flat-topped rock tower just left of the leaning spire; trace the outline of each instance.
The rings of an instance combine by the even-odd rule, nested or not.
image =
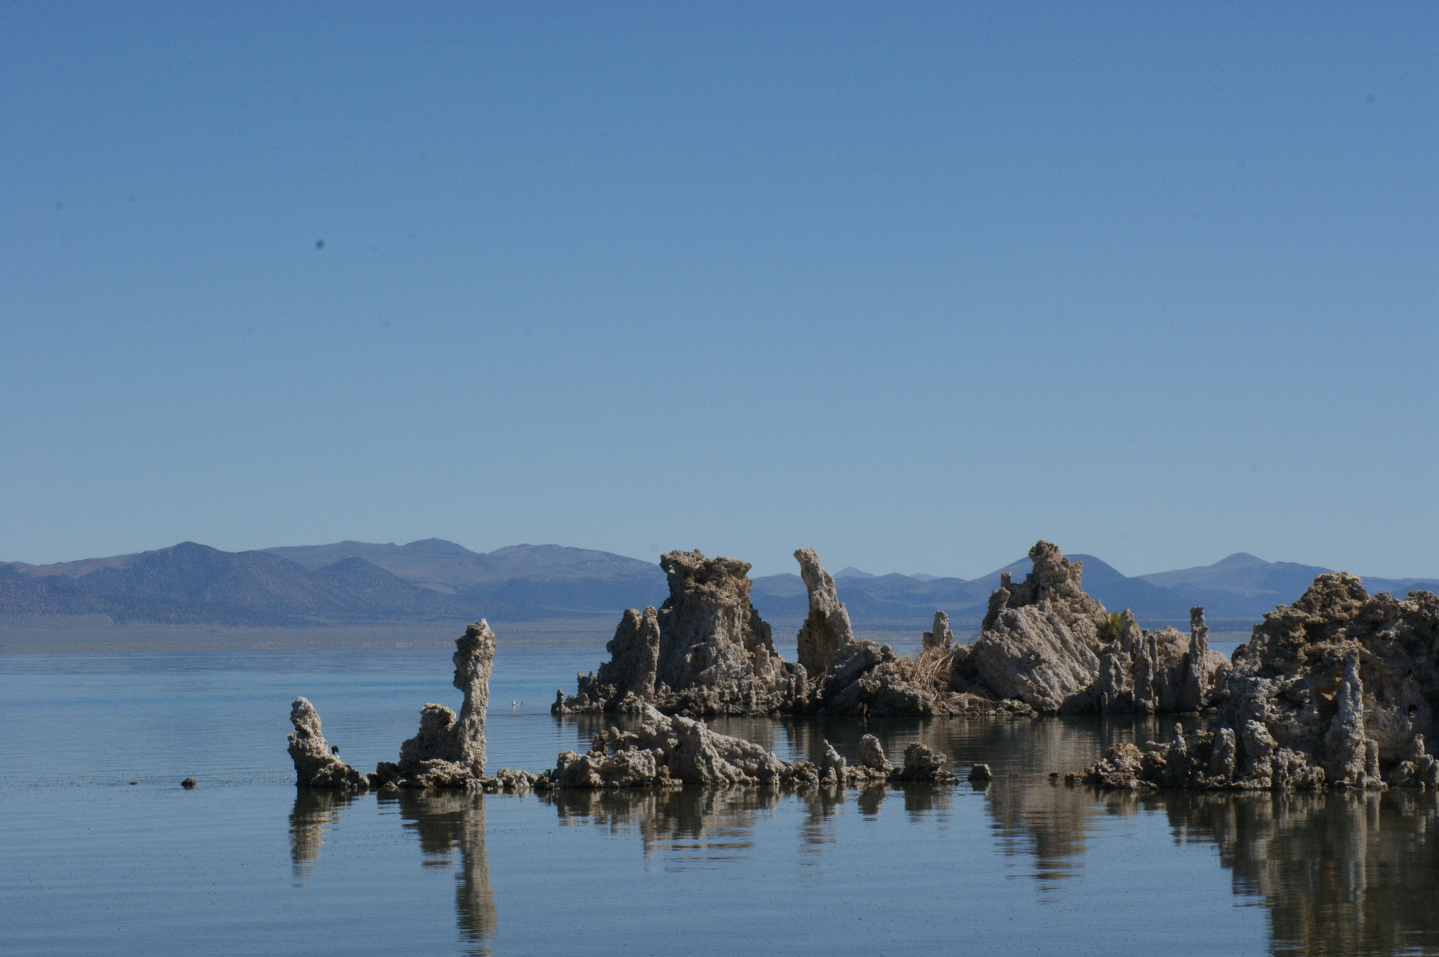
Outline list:
[[[809,678],[778,655],[770,627],[750,604],[750,565],[698,550],[669,552],[659,563],[669,598],[658,612],[626,611],[606,645],[610,661],[599,674],[580,675],[574,695],[557,694],[551,710],[653,704],[671,714],[773,714],[803,707]]]

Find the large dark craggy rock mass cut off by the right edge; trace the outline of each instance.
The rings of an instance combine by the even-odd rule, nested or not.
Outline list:
[[[1121,744],[1068,779],[1124,789],[1439,786],[1439,763],[1425,752],[1425,736],[1439,731],[1430,592],[1397,601],[1370,596],[1353,575],[1320,575],[1255,625],[1225,684],[1212,729]]]

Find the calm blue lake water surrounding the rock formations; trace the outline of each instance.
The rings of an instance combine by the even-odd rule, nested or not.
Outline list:
[[[548,713],[599,649],[496,655],[489,766],[600,727]],[[717,723],[794,760],[866,730],[986,789],[355,798],[298,790],[289,703],[358,767],[445,651],[0,655],[0,953],[1439,954],[1439,796],[1144,798],[1049,782],[1098,718]],[[522,704],[512,706],[512,701]],[[186,792],[181,777],[199,787]]]

